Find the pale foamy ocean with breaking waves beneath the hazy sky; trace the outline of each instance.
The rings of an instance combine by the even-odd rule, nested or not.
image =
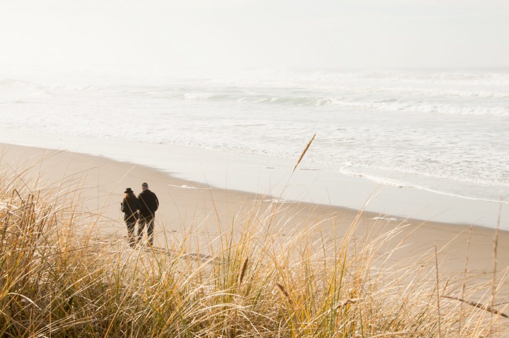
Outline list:
[[[0,120],[295,161],[316,132],[305,159],[328,172],[509,199],[508,69],[14,75],[0,78]]]

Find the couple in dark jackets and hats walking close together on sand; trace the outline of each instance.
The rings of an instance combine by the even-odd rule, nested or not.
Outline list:
[[[149,190],[147,183],[142,183],[142,192],[138,197],[134,195],[131,188],[124,191],[124,199],[120,204],[121,210],[124,213],[124,220],[127,225],[127,235],[129,238],[129,245],[134,245],[142,239],[143,229],[147,225],[147,238],[150,245],[153,245],[154,238],[154,216],[157,208],[159,208],[159,200],[155,193]],[[139,211],[138,211],[139,210]],[[138,234],[134,237],[134,228],[138,221]]]

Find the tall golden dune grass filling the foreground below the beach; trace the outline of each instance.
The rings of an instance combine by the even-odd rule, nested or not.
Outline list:
[[[164,247],[131,249],[98,235],[108,220],[82,211],[76,180],[38,182],[24,172],[0,178],[0,336],[498,337],[509,329],[492,301],[505,274],[491,284],[450,280],[434,252],[394,261],[388,243],[404,224],[359,235],[356,218],[327,238],[317,219],[282,236],[291,210],[255,203],[230,224],[218,221],[206,247],[189,230]],[[479,294],[479,306],[465,301]]]

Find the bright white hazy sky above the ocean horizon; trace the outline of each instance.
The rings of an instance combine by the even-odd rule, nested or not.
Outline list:
[[[0,0],[0,65],[509,66],[509,1]]]

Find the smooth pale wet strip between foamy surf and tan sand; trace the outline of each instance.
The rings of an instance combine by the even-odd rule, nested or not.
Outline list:
[[[428,190],[383,185],[366,178],[323,170],[304,159],[293,175],[293,161],[262,155],[232,154],[165,144],[146,144],[82,136],[66,136],[0,128],[0,143],[104,156],[129,163],[145,163],[184,181],[254,194],[279,196],[283,200],[360,209],[398,219],[481,226],[495,229],[499,209],[500,229],[509,230],[509,205],[471,200]],[[126,148],[132,154],[126,154]],[[133,160],[134,158],[134,160]]]

